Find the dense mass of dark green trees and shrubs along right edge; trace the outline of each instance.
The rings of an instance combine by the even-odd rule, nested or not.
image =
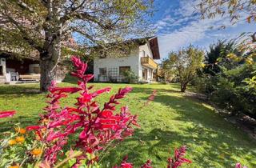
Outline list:
[[[211,45],[198,88],[232,114],[243,113],[256,118],[255,54],[254,48],[234,40]]]

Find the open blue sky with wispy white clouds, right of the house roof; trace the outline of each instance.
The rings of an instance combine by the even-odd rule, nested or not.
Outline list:
[[[151,19],[156,27],[161,58],[166,58],[171,50],[179,50],[190,44],[207,49],[210,43],[218,39],[235,38],[242,32],[256,30],[255,24],[248,24],[243,19],[234,26],[230,26],[230,18],[201,20],[194,13],[198,1],[155,0],[156,11]],[[222,25],[227,28],[220,29]]]

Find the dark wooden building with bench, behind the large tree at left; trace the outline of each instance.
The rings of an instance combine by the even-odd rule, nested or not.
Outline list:
[[[72,51],[78,47],[73,38],[68,38],[63,46]],[[15,50],[0,46],[0,84],[40,81],[39,53],[36,50],[22,51],[18,46]],[[66,71],[66,67],[58,66],[57,82],[62,82]]]

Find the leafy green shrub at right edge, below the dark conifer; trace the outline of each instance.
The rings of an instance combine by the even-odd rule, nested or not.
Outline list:
[[[242,65],[211,78],[210,98],[233,114],[244,113],[256,118],[256,90],[250,86],[256,66]],[[247,82],[247,83],[246,83]]]

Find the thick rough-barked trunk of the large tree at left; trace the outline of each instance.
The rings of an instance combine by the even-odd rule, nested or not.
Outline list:
[[[40,90],[48,90],[51,82],[56,80],[57,65],[61,58],[61,42],[55,38],[54,42],[46,45],[46,52],[40,54]]]

